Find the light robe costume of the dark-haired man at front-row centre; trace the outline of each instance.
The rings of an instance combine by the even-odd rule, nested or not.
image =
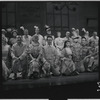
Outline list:
[[[57,50],[52,45],[46,45],[43,47],[43,57],[50,64],[50,69],[53,75],[60,74],[60,67],[58,66],[58,54]]]

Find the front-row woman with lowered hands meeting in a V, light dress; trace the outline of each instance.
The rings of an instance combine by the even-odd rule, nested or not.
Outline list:
[[[44,66],[42,59],[42,46],[39,44],[38,39],[38,35],[34,35],[32,38],[32,44],[29,45],[29,78],[39,78]]]

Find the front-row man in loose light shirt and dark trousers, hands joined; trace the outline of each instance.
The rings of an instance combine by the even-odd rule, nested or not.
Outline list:
[[[27,45],[22,42],[22,36],[17,36],[17,43],[13,44],[11,50],[11,56],[13,59],[13,72],[14,79],[17,79],[17,73],[22,71],[22,78],[27,76],[27,56],[26,56]]]

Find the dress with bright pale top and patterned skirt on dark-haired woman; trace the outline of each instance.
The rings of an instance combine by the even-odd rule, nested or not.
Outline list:
[[[61,73],[65,75],[70,75],[73,71],[75,71],[75,64],[72,61],[72,51],[70,48],[64,48],[62,50],[62,66]]]

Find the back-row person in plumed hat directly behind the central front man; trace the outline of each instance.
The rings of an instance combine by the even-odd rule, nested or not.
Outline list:
[[[51,28],[48,25],[45,25],[45,31],[46,31],[46,36],[44,36],[45,44],[47,45],[47,37],[51,36],[53,41],[52,41],[52,46],[54,46],[54,39],[55,37],[51,34]]]

